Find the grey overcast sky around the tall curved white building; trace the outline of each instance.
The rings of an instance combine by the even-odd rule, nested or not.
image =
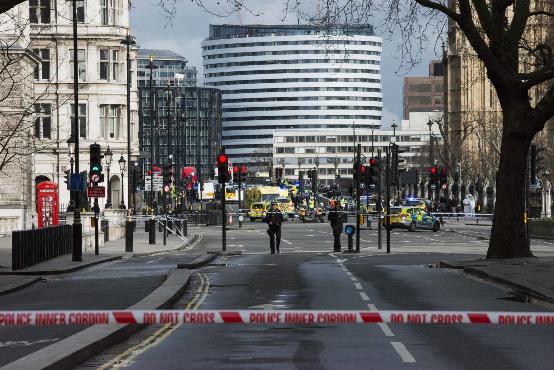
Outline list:
[[[217,12],[225,5],[217,6],[218,0],[204,0],[212,4],[211,9]],[[252,0],[248,2],[254,6],[253,13],[261,13],[258,17],[242,11],[243,24],[294,24],[295,18],[281,23],[278,17],[282,16],[283,0]],[[224,0],[220,1],[224,4]],[[228,18],[216,18],[203,12],[191,1],[182,1],[177,4],[177,15],[172,24],[167,25],[157,8],[150,1],[141,0],[132,3],[130,14],[131,34],[137,38],[137,44],[143,49],[167,49],[188,59],[188,65],[196,66],[198,80],[202,83],[202,50],[200,43],[208,37],[209,24],[238,24],[236,14]],[[314,9],[315,10],[315,9]],[[369,19],[368,23],[378,24],[378,19]],[[381,36],[381,35],[378,35]],[[383,129],[389,129],[392,120],[400,124],[402,119],[402,85],[404,76],[427,76],[429,74],[428,61],[436,58],[435,51],[429,47],[424,51],[422,60],[411,71],[399,69],[399,61],[394,57],[398,43],[398,35],[389,41],[383,39],[383,54],[381,61],[381,76],[383,85]]]

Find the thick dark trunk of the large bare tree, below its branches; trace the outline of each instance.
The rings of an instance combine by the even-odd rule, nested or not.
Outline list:
[[[488,259],[532,256],[527,248],[524,223],[525,169],[533,135],[522,126],[529,122],[529,117],[525,106],[517,103],[505,110],[502,117],[504,130]],[[511,129],[506,130],[506,127]]]

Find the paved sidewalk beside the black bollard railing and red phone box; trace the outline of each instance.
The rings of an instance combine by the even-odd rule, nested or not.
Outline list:
[[[65,274],[107,261],[185,248],[196,239],[196,234],[189,233],[186,241],[176,235],[168,235],[167,245],[163,245],[162,238],[161,233],[156,233],[156,244],[148,244],[148,233],[137,228],[133,235],[133,252],[125,252],[125,238],[122,238],[106,241],[100,248],[99,255],[95,255],[94,251],[83,252],[83,261],[80,262],[72,261],[71,254],[65,254],[25,269],[12,271],[12,237],[8,235],[0,238],[0,295],[40,281],[43,275]]]

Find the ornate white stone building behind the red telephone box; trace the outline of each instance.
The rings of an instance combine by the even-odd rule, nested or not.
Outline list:
[[[137,160],[138,118],[136,54],[132,45],[131,106],[127,106],[127,45],[122,44],[129,27],[129,9],[114,1],[77,2],[78,52],[73,50],[73,12],[71,2],[55,2],[53,9],[32,6],[30,37],[34,53],[40,59],[34,73],[36,121],[35,135],[49,148],[34,156],[34,184],[43,181],[58,183],[60,209],[70,200],[64,182],[71,168],[68,139],[71,122],[79,120],[79,170],[89,171],[89,145],[98,143],[102,152],[110,147],[113,153],[110,176],[104,162],[105,183],[110,183],[113,208],[127,204],[127,168]],[[36,3],[35,3],[36,4]],[[78,63],[79,107],[74,106],[74,63]],[[127,112],[131,111],[131,158],[127,157]],[[117,163],[126,161],[125,172]],[[105,160],[104,160],[105,161]],[[88,177],[87,177],[88,178]],[[123,189],[121,183],[123,182]],[[100,184],[102,185],[102,184]],[[85,198],[85,201],[87,199]],[[106,199],[99,199],[100,209]],[[89,203],[81,207],[88,208]]]

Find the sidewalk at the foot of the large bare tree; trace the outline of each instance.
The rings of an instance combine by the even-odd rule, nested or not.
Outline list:
[[[554,257],[444,260],[440,266],[463,269],[464,273],[510,286],[517,294],[554,304]]]

